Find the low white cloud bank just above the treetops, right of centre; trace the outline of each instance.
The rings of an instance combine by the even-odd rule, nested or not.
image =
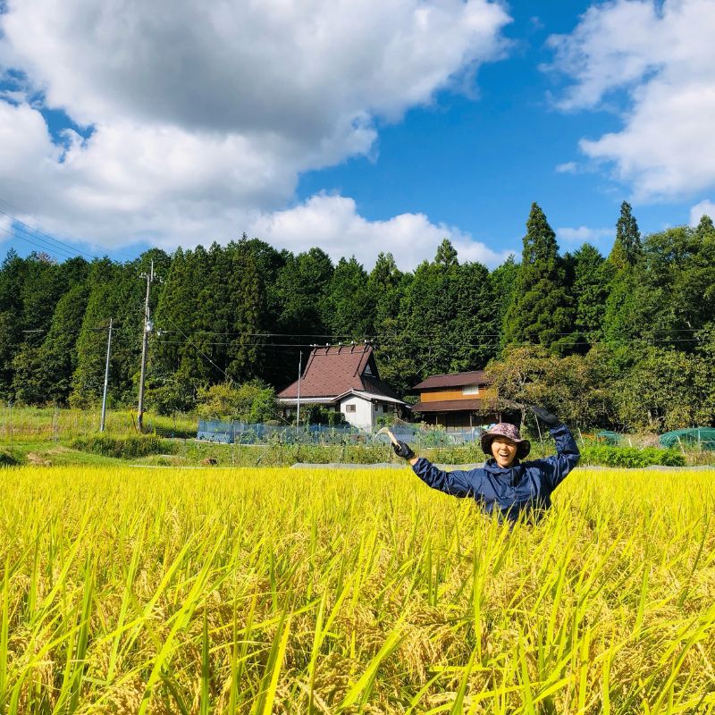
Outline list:
[[[461,262],[478,261],[495,267],[509,257],[509,251],[492,251],[454,227],[431,223],[424,214],[367,221],[357,214],[353,199],[327,194],[316,195],[295,208],[259,216],[249,232],[293,250],[318,245],[333,260],[354,255],[367,269],[381,251],[391,252],[403,270],[412,269],[425,259],[433,260],[445,238],[457,249]]]

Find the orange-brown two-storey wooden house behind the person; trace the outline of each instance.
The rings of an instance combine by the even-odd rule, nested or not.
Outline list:
[[[484,370],[469,373],[433,374],[413,388],[420,398],[412,406],[431,425],[449,429],[479,427],[501,422],[496,395]]]

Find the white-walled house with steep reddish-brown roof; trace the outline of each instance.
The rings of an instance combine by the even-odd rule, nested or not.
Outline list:
[[[299,395],[301,408],[323,405],[369,432],[377,417],[408,410],[407,403],[380,379],[369,344],[313,349],[300,379],[276,396],[286,416],[295,414]]]

